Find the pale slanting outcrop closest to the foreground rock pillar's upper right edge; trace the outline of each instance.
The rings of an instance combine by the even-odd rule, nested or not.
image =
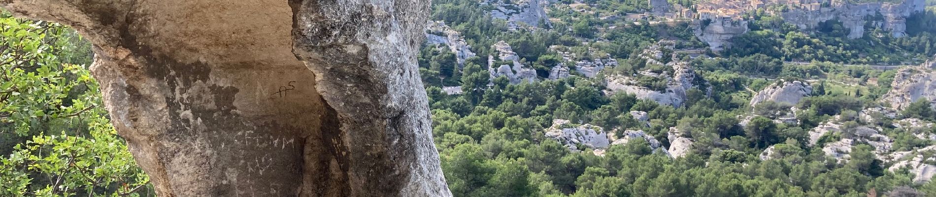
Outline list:
[[[471,46],[465,41],[464,36],[448,27],[445,21],[426,22],[426,42],[431,45],[446,46],[452,53],[455,53],[455,58],[461,66],[464,66],[465,59],[477,56],[471,51]]]

